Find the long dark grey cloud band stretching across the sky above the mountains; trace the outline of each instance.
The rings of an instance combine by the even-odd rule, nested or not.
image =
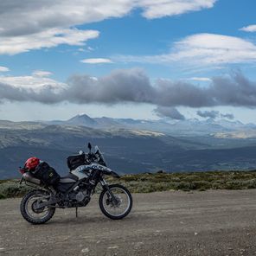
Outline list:
[[[54,104],[61,101],[78,104],[122,102],[150,103],[157,106],[256,106],[256,83],[240,72],[229,77],[215,77],[207,87],[183,81],[150,82],[141,69],[116,70],[95,79],[74,75],[67,86],[42,86],[40,90],[0,83],[0,99]]]

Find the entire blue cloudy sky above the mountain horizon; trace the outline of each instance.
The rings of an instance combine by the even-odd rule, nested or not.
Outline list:
[[[0,119],[256,123],[255,0],[0,1]]]

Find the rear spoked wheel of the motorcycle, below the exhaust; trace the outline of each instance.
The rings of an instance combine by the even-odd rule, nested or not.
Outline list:
[[[42,207],[38,205],[47,202],[50,195],[44,190],[33,190],[22,198],[21,213],[26,221],[32,224],[42,224],[50,220],[55,212],[55,208]]]

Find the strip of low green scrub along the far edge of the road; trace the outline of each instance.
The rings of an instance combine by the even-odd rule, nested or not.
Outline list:
[[[110,183],[121,183],[131,193],[168,190],[256,189],[256,171],[207,171],[189,173],[144,173],[108,177]],[[19,186],[18,180],[0,181],[0,199],[25,195],[31,188]]]

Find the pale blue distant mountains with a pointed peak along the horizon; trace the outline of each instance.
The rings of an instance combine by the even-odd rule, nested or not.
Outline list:
[[[185,119],[159,119],[159,120],[144,120],[131,118],[91,118],[86,114],[79,114],[66,121],[50,121],[49,125],[82,125],[86,127],[110,130],[117,128],[137,129],[147,131],[160,131],[172,136],[195,136],[195,135],[211,135],[218,132],[233,132],[233,131],[254,131],[256,125],[242,124],[240,121],[228,121],[226,119],[207,120]]]

